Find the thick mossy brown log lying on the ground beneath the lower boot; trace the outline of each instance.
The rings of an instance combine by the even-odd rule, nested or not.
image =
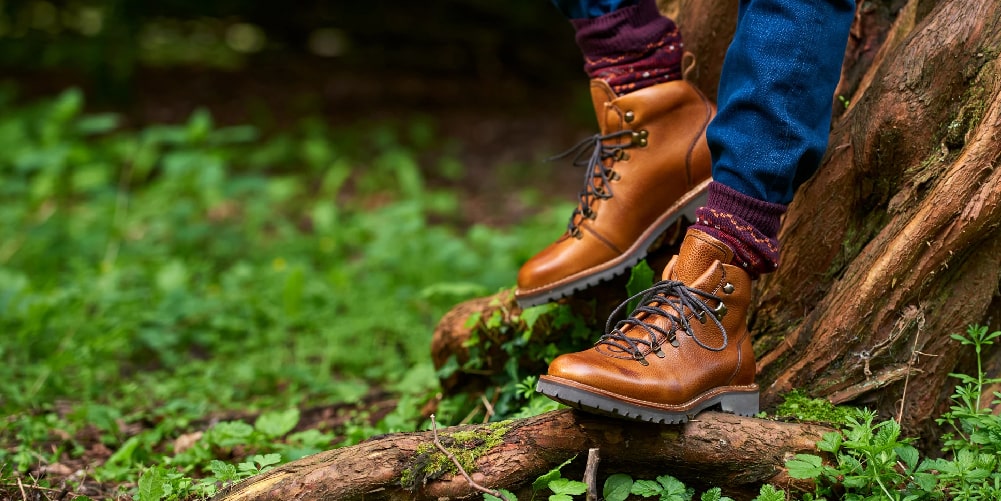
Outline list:
[[[722,486],[742,498],[762,483],[809,488],[786,474],[785,462],[797,453],[816,453],[816,442],[829,431],[716,412],[684,425],[655,425],[563,410],[443,428],[438,436],[471,478],[491,489],[525,492],[539,476],[578,455],[563,474],[581,478],[588,450],[599,448],[600,481],[623,472],[651,479],[671,474],[694,486]],[[214,499],[479,498],[481,493],[450,466],[434,449],[430,431],[383,435],[288,463],[229,486]]]

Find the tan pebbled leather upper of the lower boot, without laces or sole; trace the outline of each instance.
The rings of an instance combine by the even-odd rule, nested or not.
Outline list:
[[[543,380],[595,395],[597,401],[608,405],[607,409],[596,406],[599,411],[608,412],[617,403],[628,403],[652,410],[655,418],[662,416],[657,414],[661,411],[668,412],[667,416],[694,414],[710,399],[727,393],[756,395],[754,351],[747,330],[752,281],[743,270],[729,264],[732,258],[733,253],[725,244],[690,229],[679,256],[668,264],[663,277],[722,299],[727,308],[720,319],[726,342],[724,332],[714,322],[700,322],[688,308],[683,310],[694,336],[676,331],[678,325],[665,317],[640,313],[636,318],[676,332],[678,346],[656,334],[663,357],[639,345],[648,363],[644,365],[617,345],[599,343],[590,350],[558,357]],[[714,300],[707,301],[707,305],[718,306]],[[622,331],[631,338],[652,336],[651,331],[638,326],[627,326]],[[712,349],[701,346],[696,338]],[[716,350],[724,345],[726,348]],[[568,403],[580,407],[577,402]],[[584,407],[587,410],[588,406]]]

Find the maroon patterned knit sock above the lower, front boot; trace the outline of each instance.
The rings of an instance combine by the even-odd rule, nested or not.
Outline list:
[[[706,206],[696,210],[692,227],[734,249],[734,265],[752,277],[779,266],[779,226],[786,206],[759,200],[716,181],[709,183]]]

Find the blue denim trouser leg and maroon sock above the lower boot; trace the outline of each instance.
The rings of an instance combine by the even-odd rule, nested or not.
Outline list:
[[[778,266],[780,217],[827,149],[854,0],[741,0],[707,132],[713,179],[696,228],[752,276]]]

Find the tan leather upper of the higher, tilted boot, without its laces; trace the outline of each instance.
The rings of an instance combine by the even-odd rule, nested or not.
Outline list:
[[[520,301],[608,272],[610,267],[622,268],[613,275],[625,272],[628,265],[621,262],[646,256],[646,245],[639,243],[667,220],[677,220],[687,208],[679,204],[693,203],[694,190],[710,178],[706,126],[716,108],[691,83],[671,81],[617,96],[605,82],[594,80],[591,90],[603,134],[645,131],[647,144],[625,149],[624,158],[605,160],[617,174],[609,184],[613,196],[593,200],[593,218],[575,216],[581,229],[577,235],[565,232],[522,267],[516,291]],[[632,138],[607,141],[627,144]]]

